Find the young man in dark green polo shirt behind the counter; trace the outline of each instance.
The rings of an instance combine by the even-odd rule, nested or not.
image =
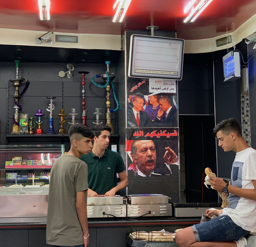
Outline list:
[[[88,166],[88,196],[114,196],[128,185],[124,162],[119,153],[107,149],[111,128],[95,125],[92,130],[95,133],[92,152],[80,157]]]

